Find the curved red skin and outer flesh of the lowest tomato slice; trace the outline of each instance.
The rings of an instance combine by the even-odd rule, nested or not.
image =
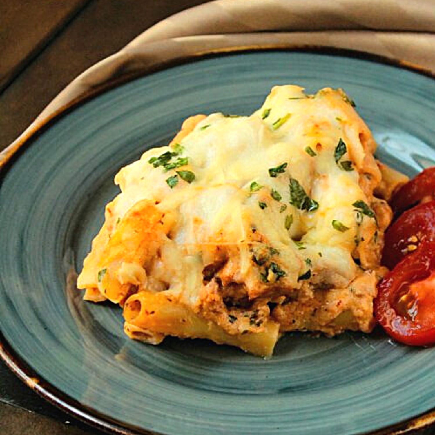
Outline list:
[[[434,271],[435,242],[426,241],[378,283],[378,295],[373,301],[375,318],[395,340],[410,346],[435,344],[435,323],[433,327],[425,327],[398,314],[393,306],[394,299],[404,286],[422,281]]]

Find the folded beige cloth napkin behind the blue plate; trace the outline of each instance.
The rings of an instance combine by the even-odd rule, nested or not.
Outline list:
[[[277,44],[360,50],[435,72],[435,0],[216,0],[177,13],[74,79],[0,153],[0,166],[41,124],[114,80],[208,51]]]

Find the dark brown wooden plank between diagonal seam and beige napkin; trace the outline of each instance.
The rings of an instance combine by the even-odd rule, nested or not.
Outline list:
[[[87,67],[163,18],[206,1],[94,0],[88,4],[1,94],[0,150]]]

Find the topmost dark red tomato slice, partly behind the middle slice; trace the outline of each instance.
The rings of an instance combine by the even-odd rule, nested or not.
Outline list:
[[[397,216],[424,197],[435,198],[435,167],[425,169],[400,187],[391,197],[390,206]]]

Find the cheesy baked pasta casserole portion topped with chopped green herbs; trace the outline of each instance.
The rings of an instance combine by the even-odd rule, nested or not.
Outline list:
[[[208,338],[270,356],[287,331],[374,327],[386,200],[404,177],[340,89],[277,86],[251,116],[184,121],[115,177],[84,260],[88,301],[157,345]]]

